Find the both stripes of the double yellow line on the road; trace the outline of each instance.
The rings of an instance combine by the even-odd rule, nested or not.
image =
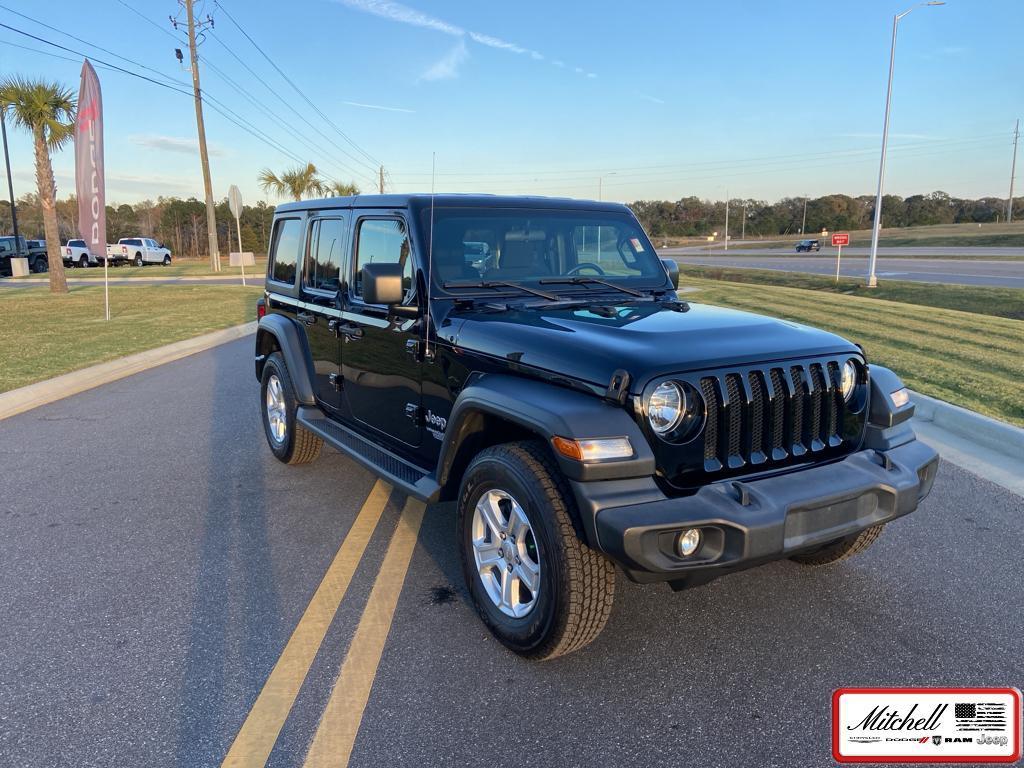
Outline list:
[[[266,764],[390,494],[391,488],[381,480],[374,484],[234,737],[223,766],[250,768]],[[323,768],[348,764],[398,595],[416,549],[424,511],[423,504],[414,500],[407,501],[401,510],[398,526],[388,544],[370,599],[306,755],[306,766]]]

